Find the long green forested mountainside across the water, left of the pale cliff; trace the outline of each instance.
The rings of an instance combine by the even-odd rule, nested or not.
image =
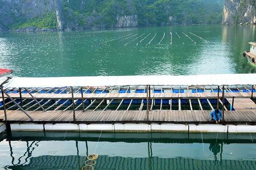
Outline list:
[[[1,0],[0,30],[221,23],[221,0]]]

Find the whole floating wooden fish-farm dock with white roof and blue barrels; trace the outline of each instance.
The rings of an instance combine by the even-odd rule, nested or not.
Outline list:
[[[0,122],[10,124],[12,130],[256,132],[252,75],[256,76],[239,74],[240,80],[230,79],[232,83],[222,75],[213,85],[207,84],[209,80],[198,80],[207,85],[192,85],[189,80],[176,80],[185,85],[141,85],[131,79],[119,85],[116,77],[101,77],[102,81],[87,77],[84,83],[83,77],[76,79],[77,86],[68,86],[73,82],[65,86],[63,79],[52,83],[46,78],[47,84],[39,78],[39,82],[13,78],[1,88]],[[196,76],[186,78],[196,81]],[[108,86],[109,79],[115,79],[116,85]],[[95,84],[105,86],[90,86]],[[209,120],[215,108],[223,113],[222,125]]]

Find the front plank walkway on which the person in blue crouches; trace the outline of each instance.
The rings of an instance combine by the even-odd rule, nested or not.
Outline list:
[[[27,111],[41,123],[73,123],[73,111]],[[147,122],[147,111],[76,111],[77,123],[131,123]],[[214,124],[209,121],[210,111],[170,111],[154,110],[149,113],[150,123],[183,123],[183,124]],[[7,111],[9,122],[32,122],[22,111]],[[225,111],[224,120],[227,124],[255,124],[256,110]],[[0,122],[4,121],[4,112],[0,111]]]

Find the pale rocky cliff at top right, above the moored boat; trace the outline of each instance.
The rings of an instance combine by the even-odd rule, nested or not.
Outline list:
[[[255,24],[255,0],[225,0],[222,24]]]

